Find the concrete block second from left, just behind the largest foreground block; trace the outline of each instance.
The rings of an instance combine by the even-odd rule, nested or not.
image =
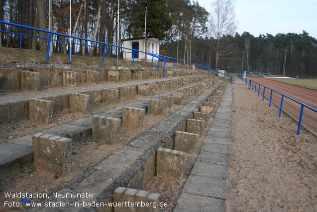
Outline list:
[[[93,141],[115,145],[121,126],[121,119],[95,115],[93,116]]]

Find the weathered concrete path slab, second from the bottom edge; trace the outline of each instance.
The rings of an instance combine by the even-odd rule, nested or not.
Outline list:
[[[183,192],[225,200],[227,198],[227,180],[190,175]]]

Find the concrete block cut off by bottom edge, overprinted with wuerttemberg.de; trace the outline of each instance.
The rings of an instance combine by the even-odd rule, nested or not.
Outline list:
[[[112,198],[113,204],[117,206],[114,212],[159,212],[159,194],[118,187]]]

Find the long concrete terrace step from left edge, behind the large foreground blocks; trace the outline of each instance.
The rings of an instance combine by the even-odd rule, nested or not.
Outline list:
[[[120,87],[122,86],[122,84],[112,86]],[[171,94],[171,92],[172,91],[167,92],[165,93],[165,95]],[[137,102],[132,102],[123,106],[146,109],[148,105],[148,99],[159,99],[159,95],[154,95],[150,98],[146,98]],[[196,103],[195,100],[193,101],[194,103]],[[97,115],[121,119],[123,106],[119,106],[115,109],[104,111]],[[161,130],[161,132],[165,132],[168,131],[169,128],[164,127],[161,128]],[[92,138],[92,116],[81,118],[50,129],[42,130],[42,132],[49,133],[52,135],[58,135],[61,137],[71,138],[73,140],[73,143],[81,143]],[[12,175],[14,172],[22,168],[24,165],[32,163],[32,136],[34,134],[27,135],[17,139],[12,139],[9,140],[7,143],[0,144],[0,177]]]

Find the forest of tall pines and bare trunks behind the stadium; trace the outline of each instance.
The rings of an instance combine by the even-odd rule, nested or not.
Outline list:
[[[52,3],[53,31],[69,34],[70,0],[52,0]],[[276,35],[230,32],[216,37],[211,33],[214,13],[192,0],[120,0],[119,5],[118,0],[71,0],[71,6],[71,34],[74,36],[110,44],[116,44],[117,39],[120,43],[121,39],[144,36],[147,6],[147,35],[170,40],[160,47],[161,55],[178,56],[216,68],[229,66],[228,71],[235,73],[243,70],[283,75],[285,66],[286,76],[317,77],[317,40],[306,31]],[[1,20],[48,29],[48,17],[49,0],[0,1]],[[0,24],[0,29],[36,35],[32,30],[4,24]],[[226,39],[219,46],[221,54],[216,56],[213,44],[224,37]],[[19,36],[1,33],[0,44],[18,47],[19,39]],[[45,42],[24,36],[22,39],[22,48],[46,48]],[[56,36],[54,39],[65,40],[65,37]],[[61,42],[54,42],[54,52],[60,52],[60,49]],[[88,55],[88,48],[84,45],[72,50],[74,54]],[[92,52],[94,56],[102,55],[98,48]],[[67,48],[63,48],[63,53],[67,53]]]

